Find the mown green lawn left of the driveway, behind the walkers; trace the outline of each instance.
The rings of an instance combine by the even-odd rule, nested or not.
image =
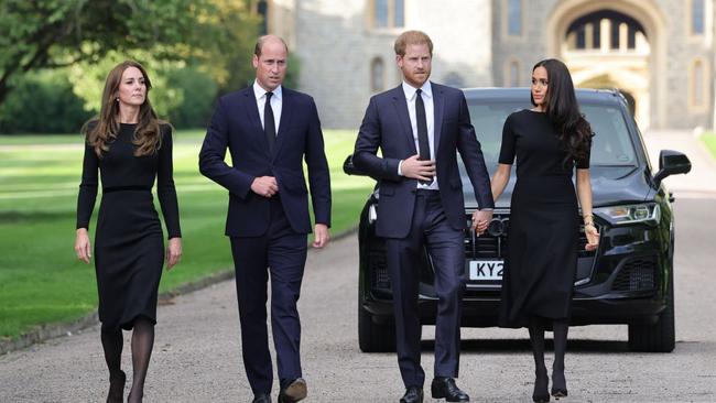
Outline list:
[[[350,230],[372,179],[341,171],[356,133],[326,131],[333,184],[332,235]],[[224,237],[227,192],[197,168],[202,131],[175,135],[174,170],[184,254],[164,272],[161,291],[231,270]],[[75,208],[82,170],[79,135],[0,138],[0,338],[35,325],[70,320],[96,308],[94,265],[76,260]],[[94,232],[96,211],[90,224]],[[159,206],[158,206],[159,210]]]

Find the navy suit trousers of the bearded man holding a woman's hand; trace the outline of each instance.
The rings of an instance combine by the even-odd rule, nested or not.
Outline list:
[[[433,263],[438,297],[434,375],[457,378],[465,290],[464,232],[447,222],[440,192],[416,190],[408,237],[386,238],[386,247],[393,290],[398,364],[405,388],[422,388],[425,382],[425,372],[420,364],[421,323],[417,314],[424,248]]]

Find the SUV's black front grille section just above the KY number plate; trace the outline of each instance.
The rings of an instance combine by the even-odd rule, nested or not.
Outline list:
[[[467,259],[505,259],[507,258],[510,216],[509,214],[495,214],[487,232],[477,237],[470,229],[471,215],[467,216],[467,229],[465,230],[465,257]],[[582,220],[582,217],[579,217]],[[597,230],[600,228],[597,226]],[[595,251],[586,251],[587,237],[584,233],[584,227],[579,226],[579,258],[594,257]]]

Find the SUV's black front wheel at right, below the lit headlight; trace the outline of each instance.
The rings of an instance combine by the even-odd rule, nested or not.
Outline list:
[[[674,326],[674,274],[669,274],[666,307],[653,325],[629,325],[629,349],[642,352],[671,352],[676,342]]]

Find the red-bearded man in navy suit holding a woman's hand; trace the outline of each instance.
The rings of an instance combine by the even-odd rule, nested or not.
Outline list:
[[[403,83],[370,99],[356,141],[356,168],[380,179],[376,233],[386,238],[393,291],[398,363],[405,384],[401,402],[422,402],[417,286],[427,248],[438,295],[435,324],[434,399],[467,402],[455,383],[459,368],[462,295],[465,288],[465,203],[457,152],[465,163],[479,210],[478,235],[492,217],[490,179],[458,89],[428,81],[433,44],[420,31],[395,41]],[[376,155],[381,150],[382,157]]]

